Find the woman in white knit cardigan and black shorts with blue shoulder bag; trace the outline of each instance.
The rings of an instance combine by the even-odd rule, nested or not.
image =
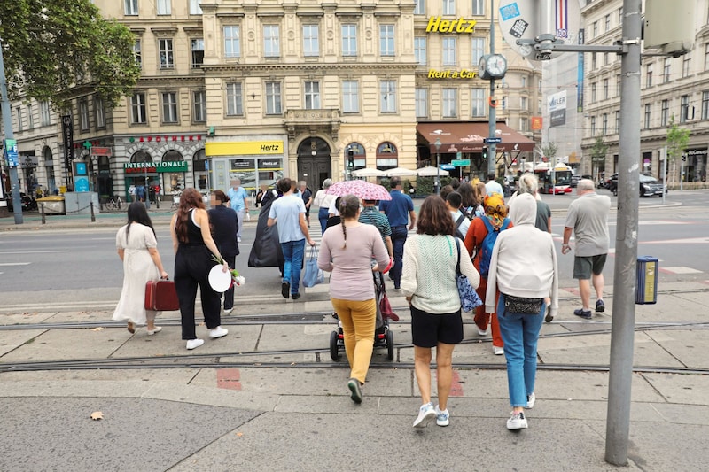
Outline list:
[[[427,197],[417,219],[417,234],[404,245],[401,290],[411,306],[414,366],[423,405],[414,428],[425,428],[433,418],[448,426],[448,394],[453,380],[453,349],[463,340],[461,303],[456,285],[456,264],[477,288],[480,275],[472,266],[465,244],[452,236],[453,219],[437,196]],[[436,348],[439,404],[431,401],[431,348]]]

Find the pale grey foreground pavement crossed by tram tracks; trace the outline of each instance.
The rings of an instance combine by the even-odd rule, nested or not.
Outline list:
[[[705,470],[709,290],[700,282],[661,289],[656,305],[636,306],[624,470]],[[308,301],[323,290],[308,289],[298,302],[277,300],[270,313],[327,313],[328,301]],[[131,335],[109,321],[110,312],[7,314],[0,469],[615,470],[604,461],[606,367],[610,321],[620,313],[612,313],[609,294],[606,312],[582,321],[571,314],[576,296],[561,298],[557,319],[542,327],[529,429],[517,433],[505,428],[503,356],[471,324],[454,352],[450,426],[412,428],[420,397],[401,297],[391,298],[401,316],[392,325],[395,358],[375,350],[362,405],[348,398],[346,363],[330,359],[329,315],[316,324],[279,324],[278,317],[249,317],[256,306],[238,304],[222,319],[227,337],[187,352],[177,313],[163,313],[154,336],[144,328]],[[253,322],[236,324],[244,319]],[[92,322],[98,325],[81,328]],[[198,333],[206,337],[204,327]],[[129,368],[11,367],[86,359],[123,359]],[[94,412],[103,419],[92,421]]]

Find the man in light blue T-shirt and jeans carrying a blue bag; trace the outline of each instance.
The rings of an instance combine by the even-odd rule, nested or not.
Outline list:
[[[283,281],[281,282],[281,295],[293,300],[300,298],[300,270],[303,267],[303,253],[305,241],[311,246],[315,241],[308,234],[308,225],[305,222],[305,204],[301,197],[293,195],[294,187],[291,179],[284,177],[277,182],[278,190],[283,192],[283,197],[277,198],[269,209],[268,226],[278,223],[278,242],[283,251]]]

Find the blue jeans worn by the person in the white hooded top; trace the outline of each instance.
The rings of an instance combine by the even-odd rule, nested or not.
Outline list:
[[[526,406],[526,397],[534,393],[537,374],[537,340],[547,306],[541,304],[537,314],[506,313],[504,294],[497,302],[497,321],[503,336],[504,357],[507,360],[507,388],[510,405]]]

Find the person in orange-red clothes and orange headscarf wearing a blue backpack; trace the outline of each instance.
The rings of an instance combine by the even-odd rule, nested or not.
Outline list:
[[[471,227],[468,229],[468,234],[465,235],[465,249],[472,254],[472,263],[480,273],[480,285],[476,291],[480,299],[486,302],[487,271],[485,267],[489,265],[489,259],[487,258],[491,255],[487,251],[483,251],[483,245],[488,246],[488,244],[484,244],[488,235],[487,228],[493,228],[493,231],[499,234],[504,229],[511,228],[512,223],[507,218],[507,205],[504,204],[504,198],[499,193],[487,195],[483,206],[485,207],[485,215],[471,221]],[[483,266],[482,270],[480,269],[481,264]],[[485,313],[485,307],[478,306],[475,309],[474,321],[478,326],[478,334],[480,336],[487,335],[488,324],[492,326],[493,353],[502,355],[504,353],[504,343],[503,338],[500,336],[497,315],[495,313]]]

